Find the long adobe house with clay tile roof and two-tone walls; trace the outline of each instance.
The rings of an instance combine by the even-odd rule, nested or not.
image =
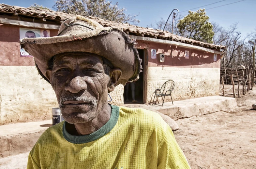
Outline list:
[[[47,36],[56,36],[60,24],[75,16],[0,4],[0,125],[51,119],[51,109],[58,106],[55,94],[51,85],[40,79],[33,57],[20,50],[19,39],[28,34],[43,36],[46,32]],[[168,31],[162,34],[162,30],[87,18],[104,27],[122,28],[132,39],[137,39],[143,59],[143,72],[136,82],[136,99],[141,103],[151,102],[155,89],[167,80],[175,82],[174,101],[219,94],[220,59],[225,46],[172,36]],[[38,33],[26,34],[28,29]],[[160,62],[159,54],[164,54],[164,62]],[[112,104],[124,104],[123,85],[118,85],[110,95]]]

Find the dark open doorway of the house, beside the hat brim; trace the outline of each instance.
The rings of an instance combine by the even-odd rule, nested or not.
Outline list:
[[[140,56],[140,59],[142,59],[142,71],[144,67],[144,50],[143,49],[138,49],[138,53]],[[143,77],[143,72],[140,73],[140,78],[136,82],[132,82],[127,84],[124,89],[124,103],[129,104],[129,103],[143,103],[143,91],[144,91],[144,77]],[[135,95],[135,101],[134,98],[132,97],[132,90],[134,90],[134,95]]]

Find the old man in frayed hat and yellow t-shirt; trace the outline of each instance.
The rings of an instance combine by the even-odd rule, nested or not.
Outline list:
[[[125,32],[76,17],[58,36],[24,38],[21,47],[52,85],[65,119],[40,136],[27,168],[190,168],[159,114],[108,104],[108,93],[141,71],[135,40]]]

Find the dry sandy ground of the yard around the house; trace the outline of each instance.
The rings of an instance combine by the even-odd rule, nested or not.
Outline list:
[[[176,121],[180,129],[174,136],[192,169],[256,169],[256,110],[251,110],[256,86],[245,96],[241,91],[237,103],[225,112]],[[0,159],[0,169],[25,169],[27,157],[23,153]]]

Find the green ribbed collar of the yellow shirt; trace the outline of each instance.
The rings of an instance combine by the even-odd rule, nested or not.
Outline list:
[[[64,125],[62,127],[62,133],[64,138],[70,142],[70,143],[74,143],[74,144],[83,144],[83,143],[88,143],[94,140],[97,140],[98,138],[106,135],[107,133],[109,133],[115,126],[115,124],[117,123],[118,117],[119,117],[119,107],[118,106],[111,106],[111,115],[110,115],[110,119],[109,121],[104,124],[100,129],[98,129],[97,131],[88,134],[88,135],[83,135],[83,136],[74,136],[68,133],[68,131],[66,130],[66,121],[64,122]]]

